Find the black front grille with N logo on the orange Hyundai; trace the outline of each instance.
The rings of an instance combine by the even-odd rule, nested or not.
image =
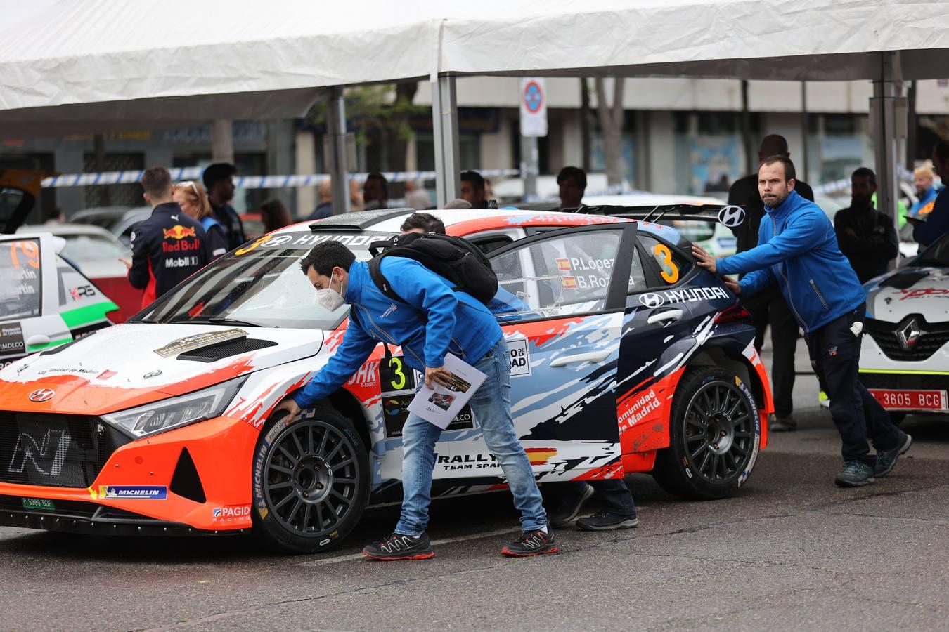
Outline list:
[[[98,417],[0,411],[0,480],[88,487],[129,441]]]

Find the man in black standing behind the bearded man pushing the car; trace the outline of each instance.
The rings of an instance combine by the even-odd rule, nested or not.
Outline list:
[[[772,155],[790,157],[788,141],[778,134],[767,135],[758,148],[758,162]],[[811,202],[814,192],[803,180],[794,181],[794,190]],[[735,232],[738,252],[751,250],[758,244],[758,226],[765,215],[765,205],[758,193],[758,174],[735,180],[728,190],[728,203],[746,208],[744,223],[732,230]],[[774,418],[768,425],[774,432],[797,429],[797,423],[791,416],[794,405],[791,391],[794,389],[794,351],[797,348],[798,328],[788,302],[781,296],[777,285],[762,290],[754,298],[742,299],[745,308],[754,318],[754,347],[760,351],[764,343],[765,328],[772,326],[772,382],[774,392]]]

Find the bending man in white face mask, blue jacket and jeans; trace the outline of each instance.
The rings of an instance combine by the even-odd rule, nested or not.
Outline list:
[[[401,301],[387,298],[369,275],[369,264],[339,242],[324,242],[300,262],[316,288],[320,305],[336,311],[349,303],[349,325],[343,342],[302,390],[274,410],[296,415],[301,408],[340,388],[359,370],[378,342],[400,346],[403,360],[425,375],[425,384],[445,385],[451,373],[444,358],[454,353],[485,373],[487,379],[469,406],[484,442],[504,470],[521,513],[521,536],[501,553],[530,556],[557,552],[547,524],[530,460],[517,439],[511,419],[511,355],[497,320],[479,300],[452,290],[452,283],[421,263],[385,257],[380,270]],[[402,302],[404,301],[404,302]],[[378,560],[426,559],[435,555],[429,544],[428,506],[431,503],[435,444],[441,428],[409,414],[402,428],[402,511],[395,531],[363,549]]]

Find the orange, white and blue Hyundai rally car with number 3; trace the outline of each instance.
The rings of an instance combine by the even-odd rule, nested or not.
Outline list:
[[[366,506],[398,501],[401,427],[419,375],[397,345],[387,360],[380,344],[297,418],[270,411],[326,365],[346,327],[348,308],[321,307],[300,260],[326,240],[367,259],[409,212],[264,235],[127,323],[0,372],[0,524],[253,529],[285,551],[320,551]],[[514,424],[541,483],[652,472],[679,496],[715,498],[748,479],[772,410],[754,328],[676,229],[621,216],[434,212],[487,251],[498,275]],[[437,444],[435,479],[435,496],[505,487],[468,408]]]

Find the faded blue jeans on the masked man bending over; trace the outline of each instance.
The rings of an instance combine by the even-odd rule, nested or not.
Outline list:
[[[511,419],[511,354],[501,338],[492,351],[474,367],[488,378],[468,402],[488,449],[504,470],[521,513],[521,530],[547,526],[547,512],[530,469],[524,446],[517,440]],[[402,513],[396,533],[419,537],[428,528],[428,506],[432,502],[432,471],[435,443],[441,428],[409,414],[402,427]]]

